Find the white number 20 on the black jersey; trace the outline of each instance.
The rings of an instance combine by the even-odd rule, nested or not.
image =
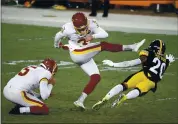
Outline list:
[[[166,64],[165,63],[161,63],[161,61],[158,58],[154,58],[153,62],[156,63],[156,65],[151,67],[149,70],[152,71],[155,74],[158,74],[158,69],[160,69],[159,77],[160,77],[160,79],[162,79],[163,72],[164,72],[164,70],[166,68]]]

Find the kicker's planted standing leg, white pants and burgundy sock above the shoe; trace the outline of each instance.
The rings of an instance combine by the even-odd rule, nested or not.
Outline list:
[[[96,85],[101,80],[101,77],[98,67],[93,59],[91,59],[89,62],[85,64],[82,64],[80,67],[85,73],[87,73],[90,76],[88,84],[85,86],[82,95],[79,97],[79,100],[81,102],[84,102],[87,95],[89,95],[95,89]]]

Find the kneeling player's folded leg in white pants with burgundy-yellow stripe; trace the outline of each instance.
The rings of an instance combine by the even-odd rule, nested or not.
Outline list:
[[[6,86],[3,90],[4,97],[9,101],[15,103],[15,107],[12,108],[9,114],[48,114],[48,107],[35,96],[25,92],[19,91],[12,86]]]

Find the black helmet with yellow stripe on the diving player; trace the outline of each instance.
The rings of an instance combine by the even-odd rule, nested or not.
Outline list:
[[[154,51],[156,54],[164,55],[166,51],[166,44],[162,40],[156,39],[151,42],[148,49]]]

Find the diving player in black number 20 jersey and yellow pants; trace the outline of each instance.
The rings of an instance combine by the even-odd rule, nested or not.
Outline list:
[[[148,91],[155,92],[158,82],[162,79],[163,74],[170,63],[174,62],[174,56],[169,54],[165,56],[166,45],[162,40],[154,40],[149,47],[141,50],[139,53],[142,63],[142,69],[128,76],[123,83],[113,87],[106,96],[99,102],[93,105],[93,109],[100,109],[110,98],[120,94],[120,98],[114,101],[112,107],[118,106],[127,99],[134,99],[142,96]],[[123,91],[133,88],[126,95]]]

